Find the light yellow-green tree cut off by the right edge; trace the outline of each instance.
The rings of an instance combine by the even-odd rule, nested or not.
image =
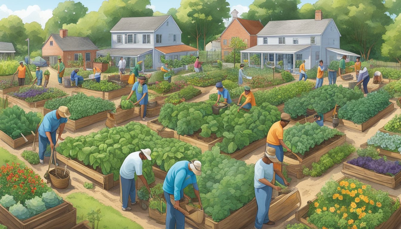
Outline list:
[[[401,63],[401,14],[399,14],[393,24],[386,26],[387,32],[383,35],[384,43],[381,47],[381,54],[395,58]]]

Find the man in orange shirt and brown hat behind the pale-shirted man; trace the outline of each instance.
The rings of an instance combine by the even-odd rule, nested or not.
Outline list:
[[[286,127],[290,123],[291,116],[288,113],[281,114],[281,120],[275,122],[269,132],[267,133],[266,139],[266,148],[271,147],[275,149],[277,159],[279,160],[279,164],[273,164],[274,168],[277,168],[281,171],[281,162],[284,160],[284,150],[283,147],[286,148],[288,152],[291,152],[290,148],[284,143],[284,127]],[[286,184],[286,180],[283,180],[280,176],[276,174],[275,180],[280,184]]]

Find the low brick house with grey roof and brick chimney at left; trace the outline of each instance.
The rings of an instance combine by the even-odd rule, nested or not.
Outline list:
[[[89,38],[68,36],[68,30],[61,29],[60,34],[50,34],[42,47],[42,58],[54,65],[57,63],[57,57],[60,57],[65,67],[70,67],[68,61],[77,61],[81,56],[85,66],[92,68],[96,51],[96,45]]]

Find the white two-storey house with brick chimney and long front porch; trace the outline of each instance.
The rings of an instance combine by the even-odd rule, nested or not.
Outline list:
[[[241,63],[249,66],[279,66],[294,71],[297,60],[305,60],[310,69],[323,60],[325,67],[332,60],[355,61],[359,55],[340,49],[340,32],[332,18],[322,19],[316,10],[315,19],[270,21],[257,34],[257,46],[241,51]]]

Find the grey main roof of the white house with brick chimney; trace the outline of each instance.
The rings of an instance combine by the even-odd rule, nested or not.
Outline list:
[[[301,35],[301,34],[322,34],[326,27],[332,21],[332,18],[315,20],[315,19],[301,19],[301,20],[282,20],[282,21],[269,21],[265,28],[260,30],[259,35]],[[333,21],[334,23],[334,21]],[[336,30],[337,26],[334,23]],[[340,33],[340,32],[338,32]],[[341,35],[340,35],[341,36]]]

